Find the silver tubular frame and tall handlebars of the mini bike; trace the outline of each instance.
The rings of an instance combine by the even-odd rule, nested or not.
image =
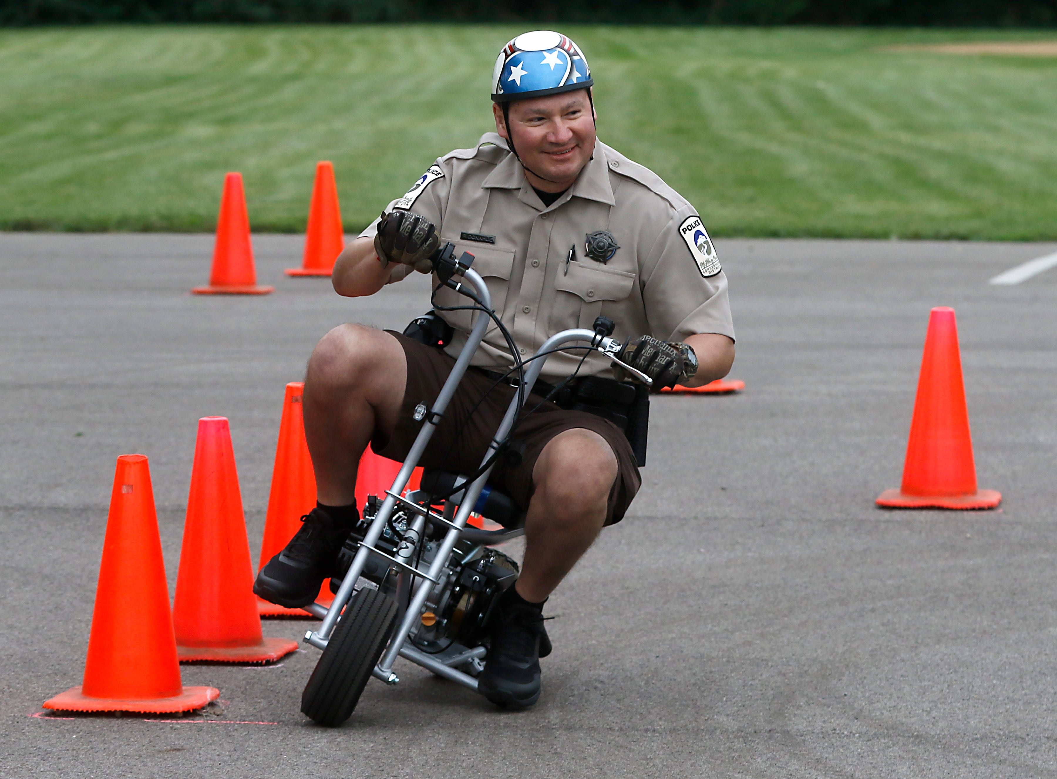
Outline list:
[[[465,270],[462,276],[464,279],[463,283],[452,283],[449,285],[452,286],[456,292],[469,297],[467,292],[463,289],[464,283],[468,282],[469,285],[472,286],[474,293],[476,294],[481,305],[490,311],[492,298],[488,295],[488,288],[481,276],[472,268]],[[304,641],[314,647],[326,649],[331,634],[334,631],[334,626],[337,624],[338,617],[341,614],[341,610],[352,597],[353,588],[359,579],[359,576],[367,564],[368,558],[372,554],[378,555],[388,560],[391,564],[397,567],[401,570],[402,578],[406,579],[405,575],[410,575],[413,587],[410,602],[408,604],[407,609],[403,611],[400,624],[390,638],[381,661],[374,668],[374,675],[388,684],[396,684],[400,682],[400,679],[395,673],[393,673],[392,667],[396,657],[403,656],[441,676],[458,682],[459,684],[465,685],[470,689],[477,689],[477,680],[468,673],[463,673],[462,671],[457,670],[453,666],[464,664],[472,659],[482,659],[485,655],[484,647],[471,648],[466,651],[459,652],[458,654],[453,654],[450,657],[443,657],[442,660],[442,655],[427,654],[418,650],[413,646],[405,646],[405,643],[407,642],[411,630],[414,628],[415,620],[420,618],[426,598],[429,596],[431,585],[440,583],[441,573],[447,564],[448,558],[451,556],[451,551],[455,549],[456,543],[461,537],[463,537],[464,530],[466,528],[466,522],[469,519],[474,505],[477,503],[478,497],[481,495],[481,490],[488,481],[488,477],[495,467],[495,463],[489,465],[477,479],[468,485],[465,485],[465,493],[463,494],[462,500],[459,504],[459,511],[456,512],[453,518],[449,518],[450,512],[448,511],[444,513],[445,516],[441,516],[428,511],[427,508],[423,508],[413,501],[402,498],[401,496],[411,478],[411,472],[419,464],[419,460],[422,458],[422,455],[426,449],[426,445],[429,443],[433,432],[437,430],[437,426],[440,424],[440,421],[447,409],[448,403],[455,395],[456,389],[459,387],[459,383],[465,375],[466,369],[469,367],[469,361],[484,338],[485,331],[487,331],[490,321],[492,320],[487,315],[481,312],[478,313],[477,321],[470,330],[469,337],[463,346],[462,351],[456,360],[456,365],[451,369],[451,373],[448,375],[447,381],[444,383],[444,387],[441,389],[440,394],[433,402],[432,408],[426,414],[422,429],[419,431],[419,435],[415,438],[414,444],[411,446],[407,458],[404,460],[404,464],[401,467],[400,472],[393,480],[392,487],[387,491],[386,499],[383,502],[382,507],[378,509],[374,520],[371,522],[371,526],[367,531],[364,540],[359,543],[356,556],[353,558],[352,564],[349,567],[349,571],[346,573],[345,578],[341,581],[341,586],[338,588],[337,594],[334,596],[334,602],[329,609],[326,610],[318,604],[312,604],[307,609],[314,615],[320,616],[322,618],[322,625],[319,626],[318,630],[305,633]],[[649,382],[648,377],[643,376],[638,371],[631,369],[629,366],[625,366],[615,358],[615,353],[620,348],[619,341],[616,341],[608,336],[602,336],[591,330],[574,329],[557,333],[543,342],[540,347],[539,353],[550,352],[558,347],[575,341],[589,341],[594,348],[605,353],[614,363],[622,365],[635,374],[638,374],[641,377],[645,378],[647,383]],[[528,400],[528,393],[535,386],[536,379],[539,377],[540,371],[543,369],[543,363],[545,361],[546,357],[533,360],[525,370],[522,403],[525,403]],[[518,395],[515,394],[506,409],[503,421],[496,430],[496,434],[489,442],[488,449],[481,460],[482,466],[488,461],[489,458],[493,457],[499,447],[502,446],[503,442],[506,441],[511,430],[514,428],[514,424],[517,421],[520,410],[521,404],[518,403]],[[422,571],[411,563],[410,554],[402,555],[400,551],[397,551],[396,557],[390,557],[388,554],[385,554],[375,548],[378,538],[382,536],[382,533],[386,527],[386,523],[389,521],[389,518],[392,516],[393,509],[397,506],[397,504],[418,515],[409,526],[409,534],[414,533],[418,536],[421,536],[425,527],[427,514],[434,522],[448,527],[437,555],[433,557],[426,571]],[[475,528],[470,530],[472,531]],[[488,536],[488,541],[490,543],[498,543],[515,538],[522,533],[523,531],[521,530],[497,532],[494,536]],[[474,536],[476,537],[475,540],[478,540],[477,537],[481,536],[480,531],[476,531]],[[403,600],[400,602],[403,602]]]

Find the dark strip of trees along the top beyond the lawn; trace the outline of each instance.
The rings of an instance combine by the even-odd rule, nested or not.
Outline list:
[[[570,22],[1053,26],[1057,0],[0,0],[0,24]]]

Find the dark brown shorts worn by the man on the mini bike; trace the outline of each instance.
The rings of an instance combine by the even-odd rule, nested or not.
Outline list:
[[[424,424],[414,421],[414,407],[420,403],[432,406],[456,360],[441,349],[424,346],[391,330],[386,332],[404,347],[407,389],[392,435],[383,441],[376,434],[371,441],[371,448],[383,457],[403,462]],[[515,392],[515,388],[505,383],[496,386],[494,378],[479,371],[466,371],[419,465],[456,474],[476,471]],[[509,465],[500,462],[492,471],[489,483],[526,508],[534,489],[533,467],[546,443],[564,430],[593,430],[606,439],[616,456],[618,472],[609,495],[606,524],[619,522],[642,484],[635,456],[624,432],[609,420],[583,411],[567,411],[536,394],[528,396],[525,408],[536,410],[518,422],[511,434],[513,442],[524,446],[521,463]]]

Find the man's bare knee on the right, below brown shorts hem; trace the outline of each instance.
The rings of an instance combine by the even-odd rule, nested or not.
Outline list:
[[[552,439],[533,470],[535,494],[561,514],[605,512],[618,471],[609,443],[593,430],[565,430]],[[535,496],[534,496],[535,497]]]

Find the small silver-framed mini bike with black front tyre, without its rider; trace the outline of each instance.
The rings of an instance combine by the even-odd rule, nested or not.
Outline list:
[[[581,349],[605,355],[643,382],[644,388],[652,384],[649,375],[620,360],[618,355],[625,350],[610,337],[614,324],[609,319],[599,317],[594,331],[573,329],[557,333],[537,355],[518,366],[519,375],[515,379],[518,391],[477,472],[467,477],[437,469],[427,471],[422,487],[403,496],[418,465],[416,455],[429,444],[438,421],[444,416],[469,357],[489,324],[488,315],[495,316],[488,289],[470,267],[472,256],[464,253],[455,260],[451,249],[450,243],[442,249],[434,265],[438,277],[443,284],[470,297],[480,307],[481,315],[463,347],[466,358],[460,356],[432,407],[418,407],[415,415],[423,425],[392,488],[381,504],[369,500],[364,519],[346,541],[344,559],[331,580],[334,602],[329,610],[321,607],[312,610],[322,616],[323,623],[318,630],[310,631],[305,641],[322,649],[323,654],[302,694],[301,710],[319,724],[345,722],[370,675],[389,684],[397,683],[392,671],[397,656],[470,689],[479,688],[476,678],[483,670],[481,661],[488,652],[488,618],[501,594],[518,576],[517,563],[488,546],[524,532],[520,526],[522,512],[508,496],[488,485],[487,480],[497,461],[509,453],[508,434],[524,412],[543,360],[574,344],[586,342]],[[453,273],[460,273],[463,281],[455,281]],[[648,400],[635,387],[620,386],[632,397],[646,400],[646,404],[635,404],[635,410],[646,413],[643,422],[632,428],[642,437],[645,459]],[[562,389],[563,386],[552,388],[548,396],[556,396]],[[612,403],[608,405],[614,407]],[[599,411],[605,410],[606,406],[599,405]],[[441,511],[433,511],[434,506]],[[503,530],[467,526],[474,512],[503,525]],[[544,647],[550,643],[542,626],[539,637]],[[544,648],[540,653],[549,652]],[[539,694],[538,689],[526,691],[530,695]]]

